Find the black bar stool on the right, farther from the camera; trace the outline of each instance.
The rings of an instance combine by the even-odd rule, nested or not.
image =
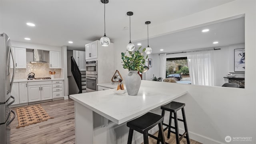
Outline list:
[[[176,144],[180,144],[180,140],[182,138],[186,138],[187,144],[190,144],[184,106],[185,106],[185,104],[180,103],[180,102],[170,102],[169,104],[161,106],[162,116],[164,116],[165,110],[170,112],[169,124],[164,124],[163,123],[164,126],[167,126],[166,128],[164,128],[164,131],[168,129],[167,138],[170,138],[170,133],[171,132],[176,135]],[[177,111],[180,110],[180,109],[182,111],[183,120],[179,119],[178,116],[177,116]],[[174,117],[172,117],[172,113],[174,114]],[[172,125],[172,118],[174,119],[175,127],[171,126]],[[178,120],[182,121],[184,123],[184,128],[185,128],[184,134],[179,134]],[[172,131],[171,128],[173,128],[175,130],[175,132]],[[158,137],[159,137],[159,135],[158,135]],[[159,144],[159,141],[157,141],[157,144]]]

